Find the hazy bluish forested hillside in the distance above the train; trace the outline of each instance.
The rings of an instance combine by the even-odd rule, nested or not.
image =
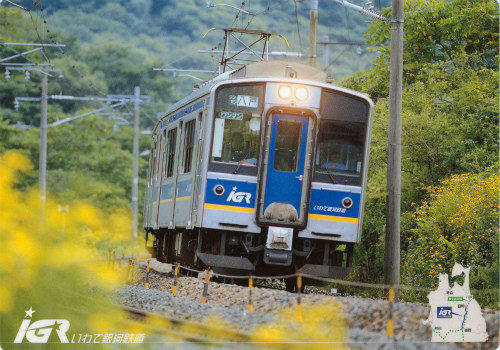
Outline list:
[[[241,3],[232,5],[238,7]],[[390,1],[384,0],[378,5],[388,6]],[[160,66],[170,62],[176,68],[216,70],[218,54],[196,54],[196,50],[200,49],[222,49],[222,32],[212,33],[202,39],[203,34],[214,27],[248,27],[280,33],[288,38],[290,51],[307,52],[308,2],[257,2],[246,4],[244,8],[258,15],[252,17],[222,6],[207,9],[205,2],[194,0],[90,1],[78,7],[60,1],[51,4],[49,23],[78,36],[85,43],[103,45],[121,42],[145,49],[150,56],[161,58],[163,64]],[[106,18],[106,21],[102,21],[102,18]],[[333,2],[320,5],[318,41],[328,34],[330,41],[363,44],[362,36],[367,26],[366,17],[356,12],[343,9]],[[271,40],[271,49],[288,50],[280,39]],[[318,46],[318,56],[321,50]],[[329,47],[329,51],[330,61],[334,62],[329,71],[337,79],[360,69],[369,69],[375,57],[366,51],[362,56],[356,55],[356,47],[334,45]],[[181,83],[185,93],[192,83],[188,80]]]

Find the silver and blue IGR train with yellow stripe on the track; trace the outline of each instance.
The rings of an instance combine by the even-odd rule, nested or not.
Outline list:
[[[361,239],[372,112],[366,94],[298,62],[252,62],[198,86],[152,133],[152,256],[221,275],[345,278]]]

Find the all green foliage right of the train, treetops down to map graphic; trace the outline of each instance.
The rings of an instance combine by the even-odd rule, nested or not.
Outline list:
[[[384,15],[390,17],[389,9]],[[383,264],[385,240],[390,63],[390,50],[385,45],[390,34],[389,25],[372,23],[366,38],[372,50],[381,52],[381,56],[372,70],[344,82],[369,93],[376,101],[363,236],[354,260],[356,276],[376,282],[382,281],[382,271],[378,269]],[[497,308],[493,301],[495,290],[498,292],[498,227],[492,218],[497,216],[498,206],[494,202],[498,186],[488,192],[494,202],[478,203],[468,212],[460,209],[464,198],[472,203],[470,198],[485,196],[477,190],[477,183],[488,175],[473,174],[490,174],[492,169],[498,169],[496,4],[406,1],[404,45],[402,283],[434,288],[437,273],[448,272],[458,261],[472,268],[471,288],[489,290],[479,294],[481,305]],[[468,178],[461,190],[450,194],[446,201],[437,200],[432,189],[440,186],[443,191],[450,190],[456,176],[460,178],[457,174],[468,174],[461,175]],[[422,210],[427,206],[433,215],[427,214],[425,219],[420,214],[415,216],[416,207]],[[468,222],[474,224],[445,224],[459,216],[468,217]],[[456,237],[461,238],[455,242]],[[440,254],[433,255],[437,252]],[[426,302],[423,292],[404,291],[402,297]]]

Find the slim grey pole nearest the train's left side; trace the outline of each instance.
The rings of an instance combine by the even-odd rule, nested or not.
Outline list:
[[[139,104],[141,102],[141,89],[139,86],[134,88],[134,144],[133,144],[133,163],[132,163],[132,243],[137,242],[137,195],[139,183]]]

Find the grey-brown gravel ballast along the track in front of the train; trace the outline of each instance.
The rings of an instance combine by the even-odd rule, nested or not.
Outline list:
[[[172,295],[174,278],[170,265],[151,261],[149,289],[144,288],[145,263],[139,264],[134,285],[115,291],[113,301],[169,317],[204,322],[218,315],[224,322],[241,331],[250,331],[263,324],[277,322],[282,310],[296,308],[297,295],[282,289],[254,286],[253,310],[248,312],[248,288],[234,284],[210,282],[207,303],[201,304],[203,278],[178,277],[177,293]],[[202,276],[200,276],[202,277]],[[258,282],[255,282],[258,284]],[[266,285],[284,288],[279,281]],[[323,292],[324,293],[324,292]],[[336,301],[349,328],[346,344],[352,349],[497,349],[499,313],[483,310],[488,341],[485,343],[432,343],[431,327],[424,325],[430,307],[425,304],[397,302],[392,305],[395,338],[386,335],[391,305],[387,300],[372,300],[352,296],[316,294],[307,289],[302,294],[303,309]]]

